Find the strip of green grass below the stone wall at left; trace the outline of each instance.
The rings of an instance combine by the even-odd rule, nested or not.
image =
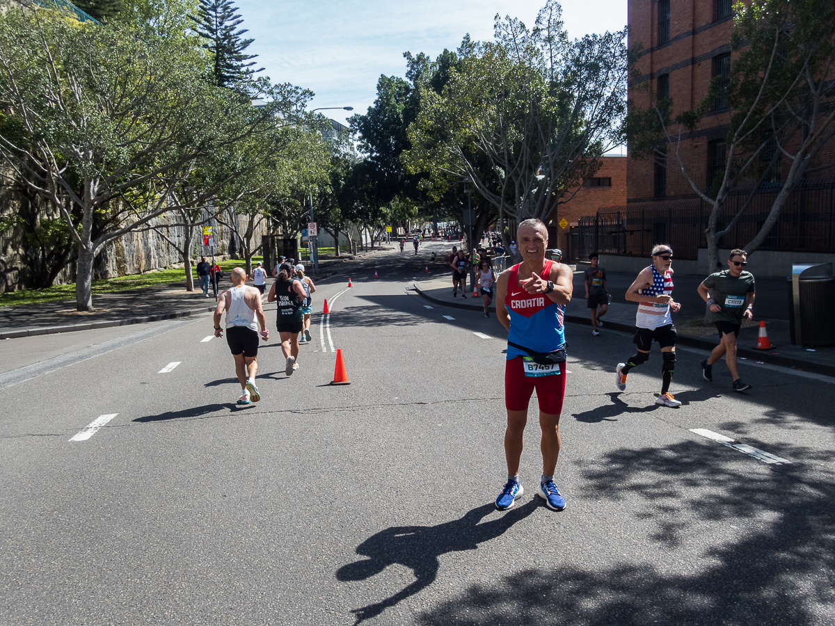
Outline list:
[[[253,256],[252,264],[255,265],[260,260],[262,260],[260,256]],[[220,265],[220,269],[223,270],[225,275],[229,275],[232,268],[238,265],[243,267],[244,260],[231,259],[220,261],[217,265]],[[200,281],[197,280],[195,269],[192,268],[191,272],[195,278],[195,289],[200,289]],[[171,283],[180,283],[182,288],[185,289],[185,270],[183,268],[154,270],[145,272],[144,274],[132,274],[118,276],[116,278],[106,278],[104,280],[94,280],[93,295],[141,289],[142,287],[154,287],[156,285],[170,285]],[[56,300],[75,300],[75,283],[54,285],[46,289],[7,291],[6,293],[0,294],[0,307],[32,305],[38,302],[54,302]]]

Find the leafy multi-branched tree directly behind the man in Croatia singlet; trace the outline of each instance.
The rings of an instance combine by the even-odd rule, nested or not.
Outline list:
[[[547,217],[594,174],[622,142],[626,33],[570,42],[560,17],[555,0],[533,31],[497,15],[494,42],[468,42],[442,92],[422,89],[410,171],[469,179],[499,218],[518,221]]]

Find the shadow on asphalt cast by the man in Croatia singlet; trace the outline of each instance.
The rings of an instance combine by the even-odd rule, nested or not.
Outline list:
[[[357,554],[367,558],[343,565],[337,570],[337,580],[343,583],[366,580],[389,565],[400,563],[412,569],[415,581],[380,602],[354,609],[353,613],[357,615],[355,626],[432,584],[438,576],[438,558],[442,554],[475,550],[479,543],[499,537],[514,523],[534,512],[539,506],[537,500],[534,497],[523,506],[514,507],[504,515],[482,524],[479,522],[483,517],[495,510],[493,504],[473,508],[453,522],[437,526],[392,527],[367,538],[357,547]]]

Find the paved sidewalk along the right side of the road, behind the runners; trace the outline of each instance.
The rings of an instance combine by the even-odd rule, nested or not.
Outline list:
[[[446,305],[458,309],[483,310],[481,298],[473,299],[473,289],[471,286],[468,287],[466,299],[462,299],[460,293],[457,298],[453,298],[453,285],[450,276],[444,275],[443,277],[430,280],[416,280],[414,286],[417,293],[438,305]],[[565,307],[565,320],[591,326],[589,310],[586,308],[586,300],[583,295],[583,291],[578,290],[574,286],[574,298]],[[493,305],[490,307],[491,310],[493,310],[496,304],[496,301],[493,300]],[[673,314],[673,322],[676,323],[678,319],[678,316]],[[634,333],[635,306],[612,302],[609,306],[609,311],[602,321],[604,328]],[[788,321],[768,320],[768,337],[772,346],[775,347],[769,351],[754,350],[753,346],[757,346],[759,318],[755,318],[755,321],[757,321],[756,325],[743,328],[740,331],[738,356],[751,359],[752,361],[771,363],[776,366],[793,367],[797,370],[835,376],[835,346],[815,348],[813,350],[802,346],[792,346],[789,339]],[[712,326],[693,326],[692,323],[689,323],[685,328],[692,328],[694,334],[686,334],[686,332],[682,332],[684,330],[683,328],[679,328],[678,342],[682,346],[712,350],[719,342],[716,330]],[[702,336],[702,331],[704,336]]]

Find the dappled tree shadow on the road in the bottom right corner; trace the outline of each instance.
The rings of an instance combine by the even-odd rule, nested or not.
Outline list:
[[[802,449],[792,454],[807,460]],[[636,517],[657,523],[657,532],[650,530],[645,538],[641,563],[592,569],[578,565],[582,557],[575,555],[570,565],[555,563],[475,585],[418,621],[428,626],[833,623],[832,481],[827,472],[802,463],[772,471],[755,467],[751,471],[738,452],[711,443],[611,452],[585,470],[584,488],[595,499],[630,502],[640,511]],[[708,536],[702,536],[705,528],[711,528]],[[727,539],[711,537],[714,533]],[[692,551],[677,549],[685,539],[695,558]],[[679,562],[684,572],[673,565]]]

